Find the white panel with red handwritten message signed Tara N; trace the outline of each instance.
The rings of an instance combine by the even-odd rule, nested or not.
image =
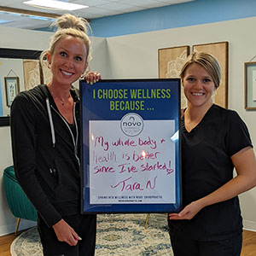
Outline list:
[[[90,120],[90,204],[174,203],[174,120],[144,120],[136,137],[120,121]]]

